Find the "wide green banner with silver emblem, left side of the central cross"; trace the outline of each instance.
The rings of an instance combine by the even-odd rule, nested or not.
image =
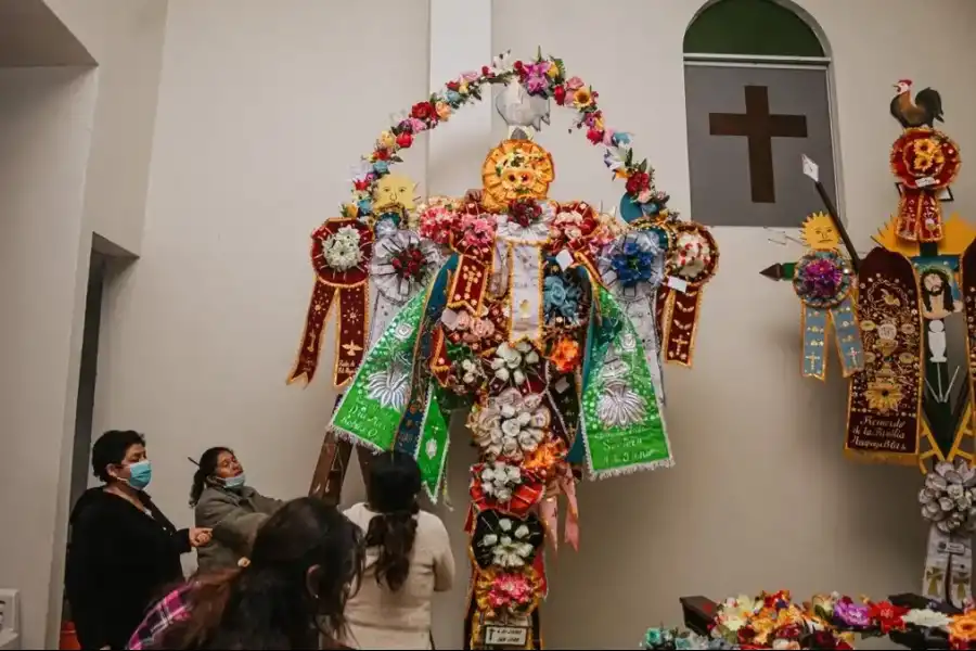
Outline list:
[[[414,296],[373,344],[332,419],[338,436],[377,451],[393,449],[407,407],[418,328],[426,298],[424,293]]]

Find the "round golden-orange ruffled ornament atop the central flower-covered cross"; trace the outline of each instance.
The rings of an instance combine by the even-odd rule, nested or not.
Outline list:
[[[481,203],[488,210],[502,210],[515,199],[544,199],[554,178],[549,152],[531,140],[505,140],[481,166]]]

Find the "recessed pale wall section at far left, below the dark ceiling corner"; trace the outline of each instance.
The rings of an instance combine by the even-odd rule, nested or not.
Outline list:
[[[61,583],[95,91],[87,71],[0,71],[0,585],[22,590],[25,648]]]

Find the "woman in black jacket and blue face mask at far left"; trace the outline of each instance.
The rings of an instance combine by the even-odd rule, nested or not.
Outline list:
[[[143,493],[152,465],[138,432],[105,432],[91,465],[104,485],[72,512],[65,588],[81,648],[124,649],[154,600],[182,580],[180,554],[210,532],[177,531]]]

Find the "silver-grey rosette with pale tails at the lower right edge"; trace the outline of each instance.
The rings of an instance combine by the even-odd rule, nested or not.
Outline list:
[[[976,470],[962,458],[937,463],[919,492],[919,503],[929,522],[924,595],[963,608],[972,598]]]

